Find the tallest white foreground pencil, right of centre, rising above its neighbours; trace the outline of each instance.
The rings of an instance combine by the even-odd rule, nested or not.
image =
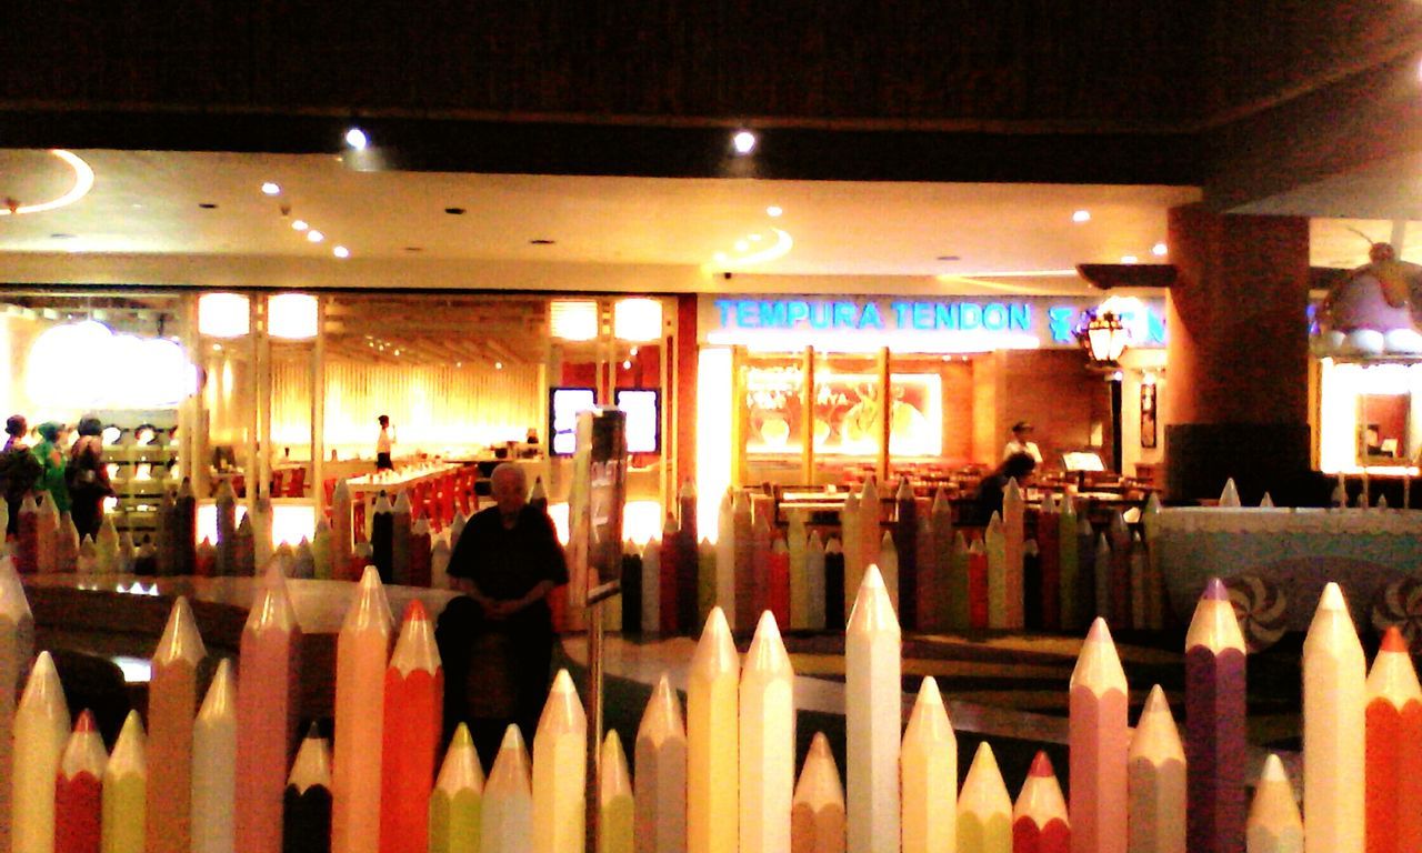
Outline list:
[[[902,643],[877,566],[865,570],[845,628],[850,853],[899,850]]]

